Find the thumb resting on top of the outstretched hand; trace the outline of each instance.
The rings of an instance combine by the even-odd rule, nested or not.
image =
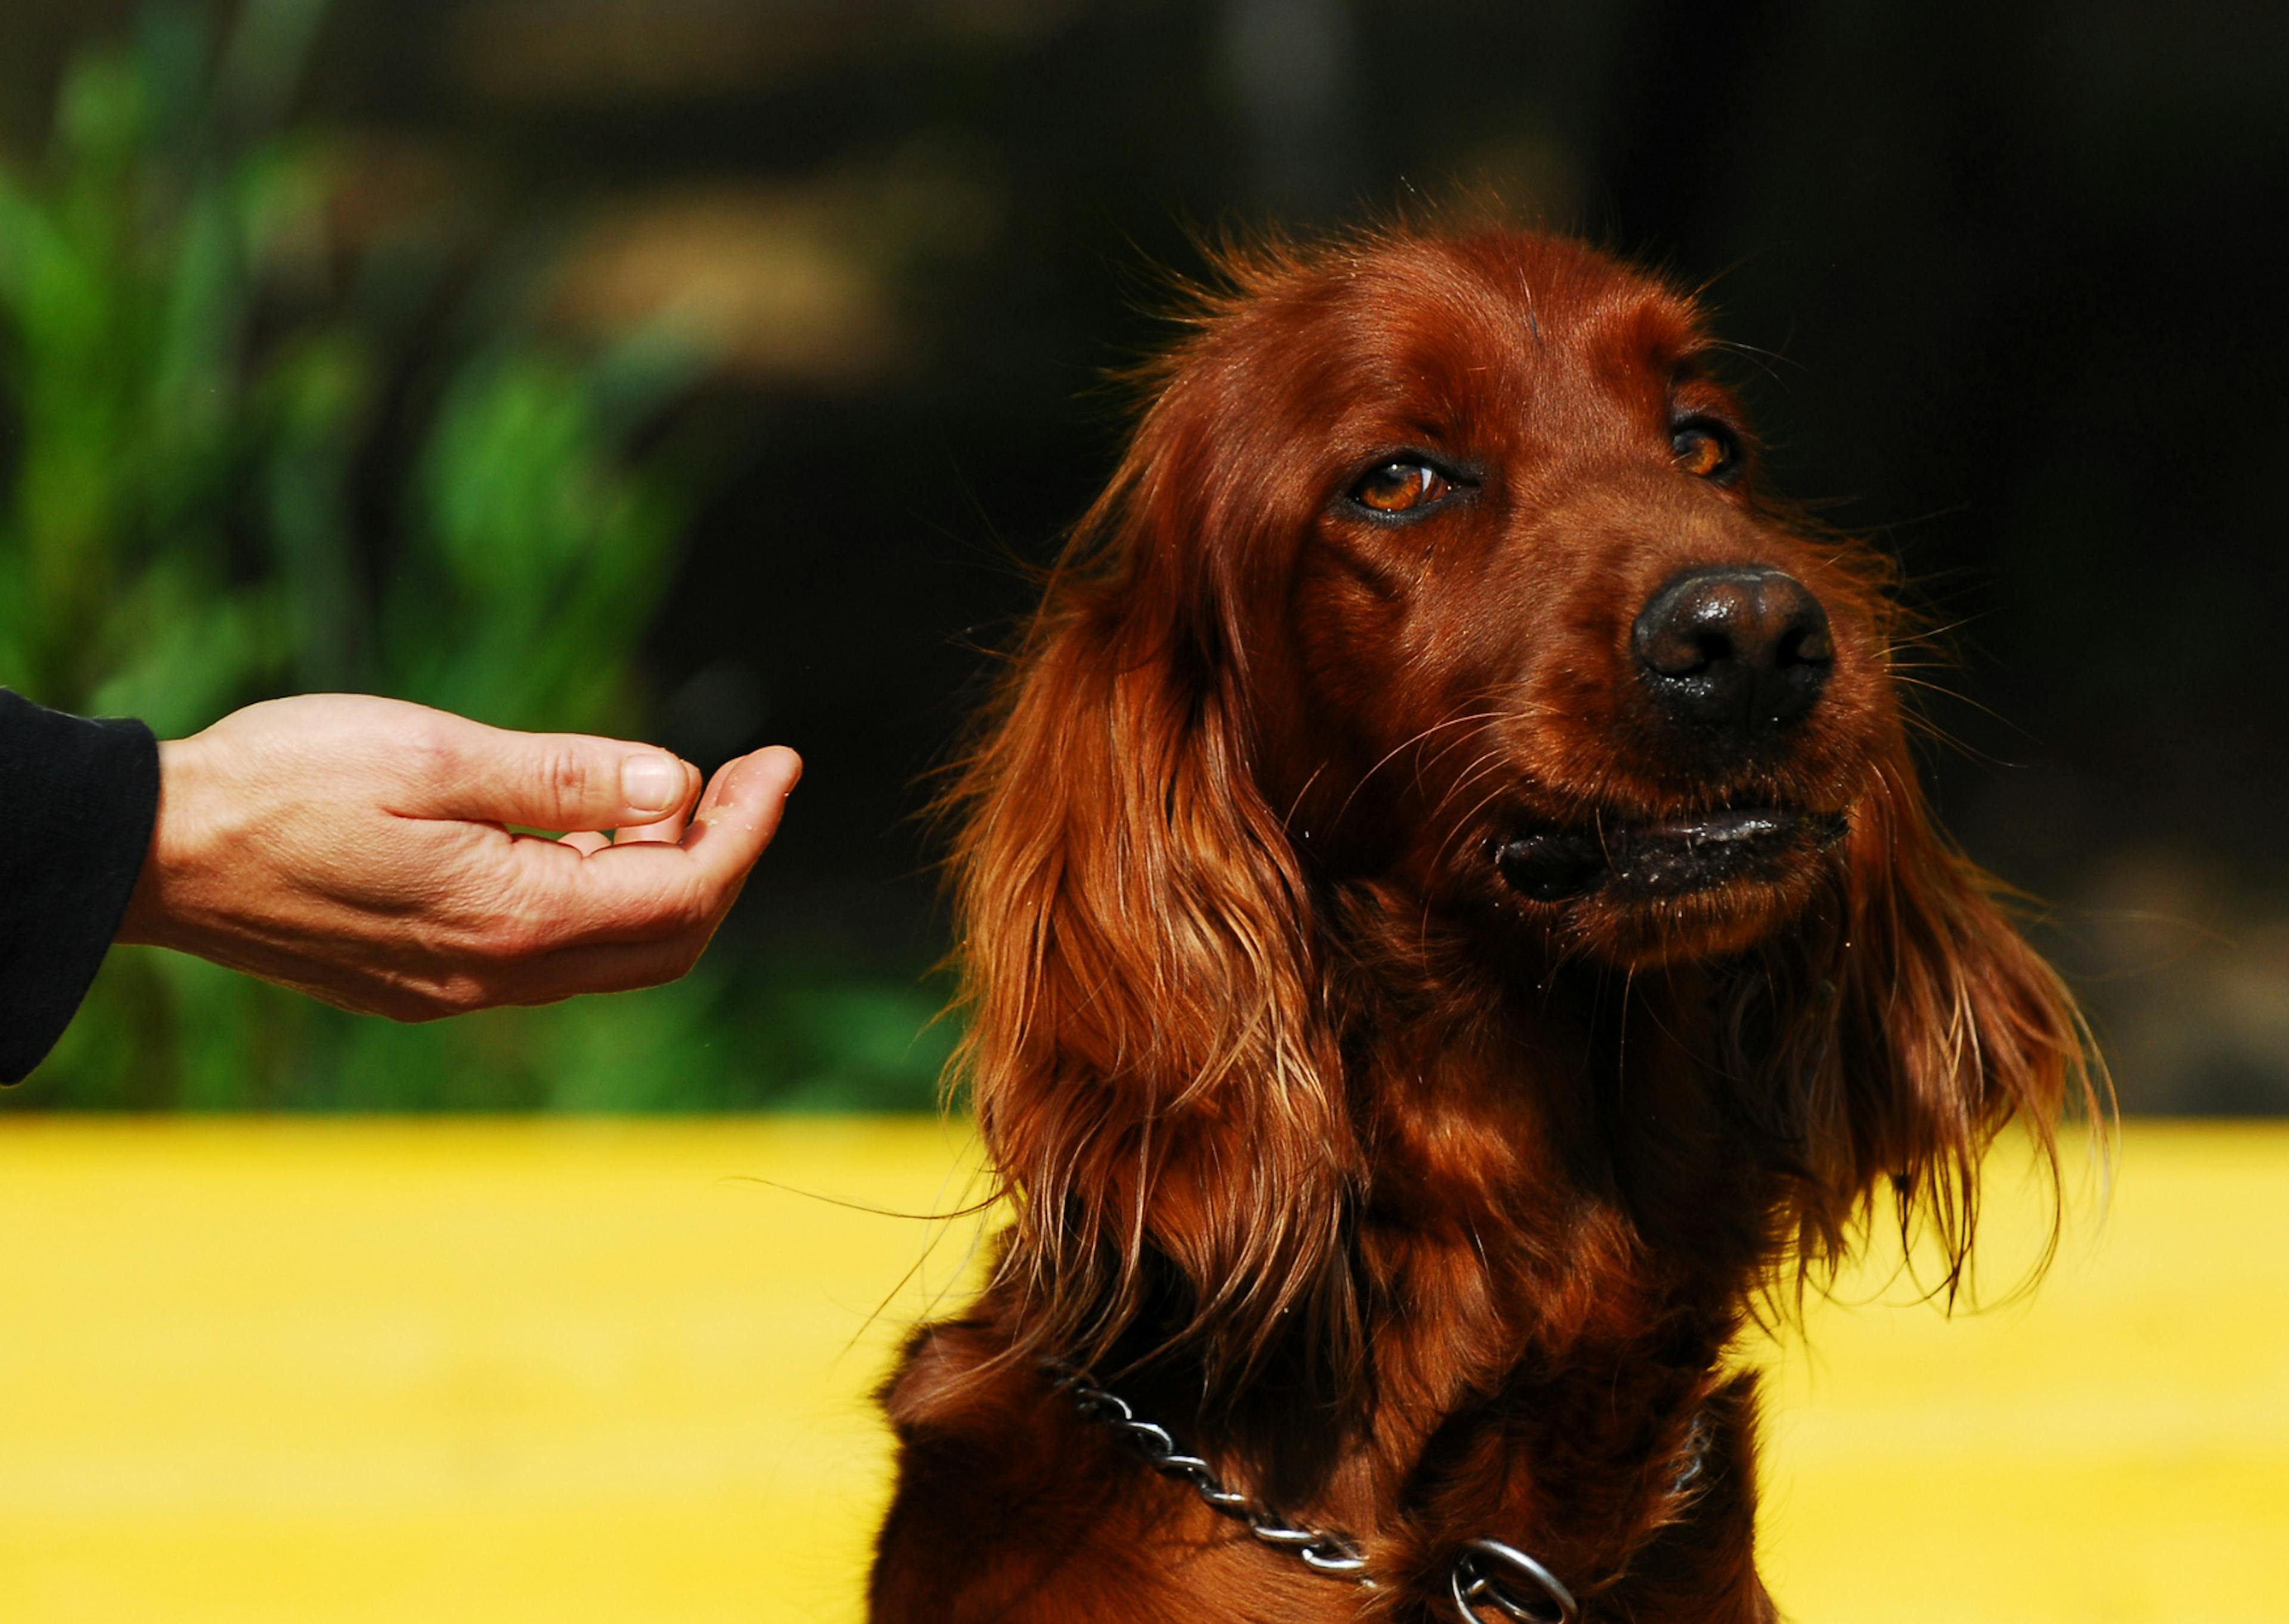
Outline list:
[[[533,829],[620,829],[682,815],[698,770],[652,744],[586,733],[508,733],[435,712],[410,754],[398,811],[414,818],[520,822]]]

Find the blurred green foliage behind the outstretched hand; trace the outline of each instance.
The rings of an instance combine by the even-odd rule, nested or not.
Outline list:
[[[163,738],[314,689],[639,731],[636,651],[705,472],[636,447],[705,357],[467,312],[458,341],[426,332],[435,234],[336,241],[334,158],[279,119],[323,9],[250,0],[215,41],[156,7],[71,69],[46,160],[0,165],[0,683]],[[121,948],[0,1102],[920,1106],[932,1008],[719,953],[655,992],[403,1028]]]

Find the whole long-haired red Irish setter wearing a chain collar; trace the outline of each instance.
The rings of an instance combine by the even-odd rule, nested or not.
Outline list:
[[[957,790],[1014,1223],[877,1619],[1774,1617],[1744,1322],[1962,1269],[2088,1074],[1712,362],[1490,229],[1236,254],[1154,371]]]

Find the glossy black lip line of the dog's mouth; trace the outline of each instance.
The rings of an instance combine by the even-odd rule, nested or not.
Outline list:
[[[1527,825],[1495,843],[1495,868],[1536,902],[1591,893],[1664,898],[1758,880],[1836,845],[1843,813],[1801,806],[1726,806],[1689,818],[1598,818]]]

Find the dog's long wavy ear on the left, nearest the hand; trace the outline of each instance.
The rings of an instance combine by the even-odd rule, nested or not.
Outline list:
[[[1016,1207],[1021,1342],[1099,1358],[1154,1292],[1229,1381],[1298,1315],[1323,1347],[1353,1333],[1355,1152],[1231,584],[1195,534],[1220,520],[1156,495],[1167,460],[1140,444],[1085,520],[1096,561],[1051,582],[955,790],[955,1065]]]

